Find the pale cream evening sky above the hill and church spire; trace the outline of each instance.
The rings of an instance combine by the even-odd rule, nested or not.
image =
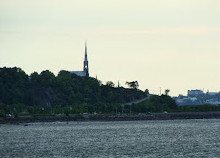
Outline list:
[[[0,0],[0,67],[83,68],[171,96],[220,91],[219,0]]]

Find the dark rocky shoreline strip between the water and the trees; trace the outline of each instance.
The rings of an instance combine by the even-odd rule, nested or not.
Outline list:
[[[86,116],[45,116],[32,118],[0,118],[0,124],[22,124],[38,122],[69,122],[69,121],[138,121],[138,120],[180,120],[180,119],[220,119],[220,112],[179,112],[152,113],[149,115],[86,115]]]

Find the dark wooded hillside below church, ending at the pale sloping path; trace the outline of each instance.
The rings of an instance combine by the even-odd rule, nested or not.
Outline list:
[[[76,109],[74,107],[80,106],[88,112],[109,112],[115,105],[145,96],[146,93],[138,89],[115,88],[112,82],[104,85],[95,78],[79,77],[63,70],[57,76],[49,70],[40,74],[34,72],[28,76],[17,67],[0,68],[0,107],[19,105],[16,108],[19,109],[21,105],[38,107],[71,105],[73,110]]]

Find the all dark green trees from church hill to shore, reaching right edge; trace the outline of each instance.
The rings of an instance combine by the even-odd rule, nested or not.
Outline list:
[[[104,85],[95,78],[79,77],[63,70],[57,76],[49,70],[29,76],[20,68],[0,68],[0,117],[220,110],[220,106],[210,105],[178,107],[168,96],[168,90],[142,103],[124,105],[149,94],[148,90],[137,89],[137,81],[127,83],[131,88],[114,87],[111,81]]]

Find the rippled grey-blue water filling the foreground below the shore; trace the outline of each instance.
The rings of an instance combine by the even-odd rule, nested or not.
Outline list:
[[[0,125],[0,157],[220,157],[220,119]]]

